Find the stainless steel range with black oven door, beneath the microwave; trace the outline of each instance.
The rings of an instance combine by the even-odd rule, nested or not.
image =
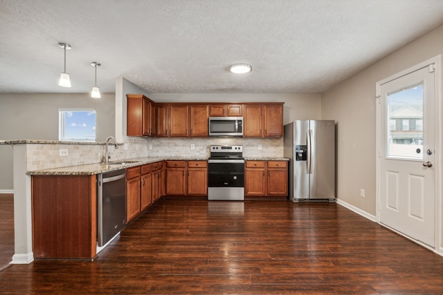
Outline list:
[[[244,200],[243,146],[210,146],[208,200]]]

